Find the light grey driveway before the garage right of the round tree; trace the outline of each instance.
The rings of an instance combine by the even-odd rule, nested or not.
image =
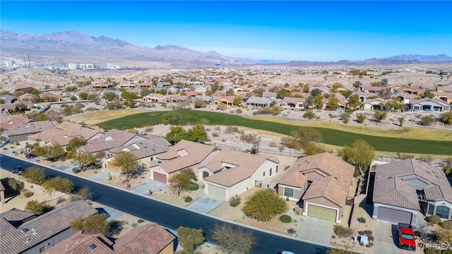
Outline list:
[[[298,238],[308,243],[316,242],[329,246],[333,236],[334,222],[312,217],[303,218],[303,226],[299,231]]]

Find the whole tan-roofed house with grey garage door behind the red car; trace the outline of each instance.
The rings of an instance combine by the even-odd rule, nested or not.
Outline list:
[[[376,165],[371,181],[374,219],[416,224],[420,212],[452,219],[452,187],[442,169],[404,159]]]

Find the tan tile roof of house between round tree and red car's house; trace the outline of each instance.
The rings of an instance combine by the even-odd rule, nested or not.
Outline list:
[[[303,199],[324,197],[344,207],[355,167],[329,152],[297,159],[297,162],[285,171],[278,184],[301,188],[307,181],[304,174],[312,171],[324,177],[311,183]]]

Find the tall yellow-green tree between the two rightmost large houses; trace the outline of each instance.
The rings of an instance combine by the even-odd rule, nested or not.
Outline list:
[[[375,156],[375,149],[371,147],[365,140],[355,140],[352,145],[345,145],[345,147],[338,152],[338,155],[355,166],[359,170],[360,176],[369,169],[372,159]]]

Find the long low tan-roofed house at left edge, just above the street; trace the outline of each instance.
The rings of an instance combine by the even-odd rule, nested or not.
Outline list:
[[[45,129],[54,128],[57,125],[58,123],[56,121],[30,121],[21,126],[16,126],[4,131],[1,133],[1,136],[9,142],[26,141],[28,140],[29,135],[40,133]]]

